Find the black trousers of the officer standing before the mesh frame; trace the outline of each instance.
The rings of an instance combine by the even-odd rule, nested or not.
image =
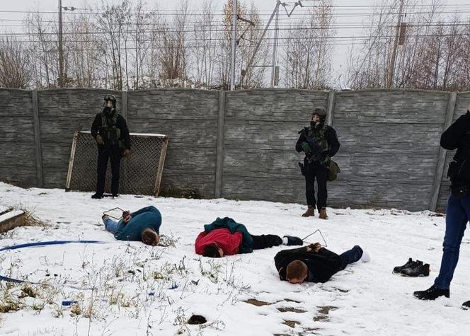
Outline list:
[[[98,146],[98,164],[96,168],[96,194],[103,195],[106,182],[106,168],[111,161],[111,193],[117,195],[119,190],[119,170],[121,164],[121,149],[119,146]]]

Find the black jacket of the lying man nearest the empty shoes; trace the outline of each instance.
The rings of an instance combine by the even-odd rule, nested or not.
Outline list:
[[[308,267],[313,275],[312,279],[305,279],[309,282],[327,282],[333,274],[340,270],[340,257],[326,248],[321,248],[318,253],[307,252],[306,247],[295,248],[293,250],[282,250],[274,257],[277,272],[281,280],[287,280],[285,272],[287,265],[294,260],[300,260]]]

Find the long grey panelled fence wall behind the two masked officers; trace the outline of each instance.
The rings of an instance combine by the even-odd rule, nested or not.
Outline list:
[[[440,134],[470,101],[416,90],[1,89],[0,180],[64,187],[74,131],[90,129],[107,93],[131,132],[168,135],[164,195],[304,203],[294,144],[323,106],[341,142],[328,204],[410,210],[445,208],[452,153]]]

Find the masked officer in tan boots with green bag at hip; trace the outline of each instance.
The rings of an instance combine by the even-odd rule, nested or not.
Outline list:
[[[328,181],[328,164],[340,148],[336,131],[325,124],[326,112],[324,108],[314,108],[311,115],[310,127],[299,132],[300,137],[295,144],[299,153],[304,151],[304,166],[302,174],[305,176],[305,195],[308,209],[302,216],[315,216],[315,204],[319,210],[319,217],[327,219],[326,215],[326,182]],[[315,200],[315,179],[318,187],[317,201]]]

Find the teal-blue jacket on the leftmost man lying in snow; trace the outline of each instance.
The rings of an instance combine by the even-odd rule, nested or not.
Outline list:
[[[146,228],[153,228],[157,234],[160,232],[161,214],[156,207],[144,207],[130,214],[132,219],[124,225],[122,219],[114,236],[119,241],[142,241],[140,237]]]

